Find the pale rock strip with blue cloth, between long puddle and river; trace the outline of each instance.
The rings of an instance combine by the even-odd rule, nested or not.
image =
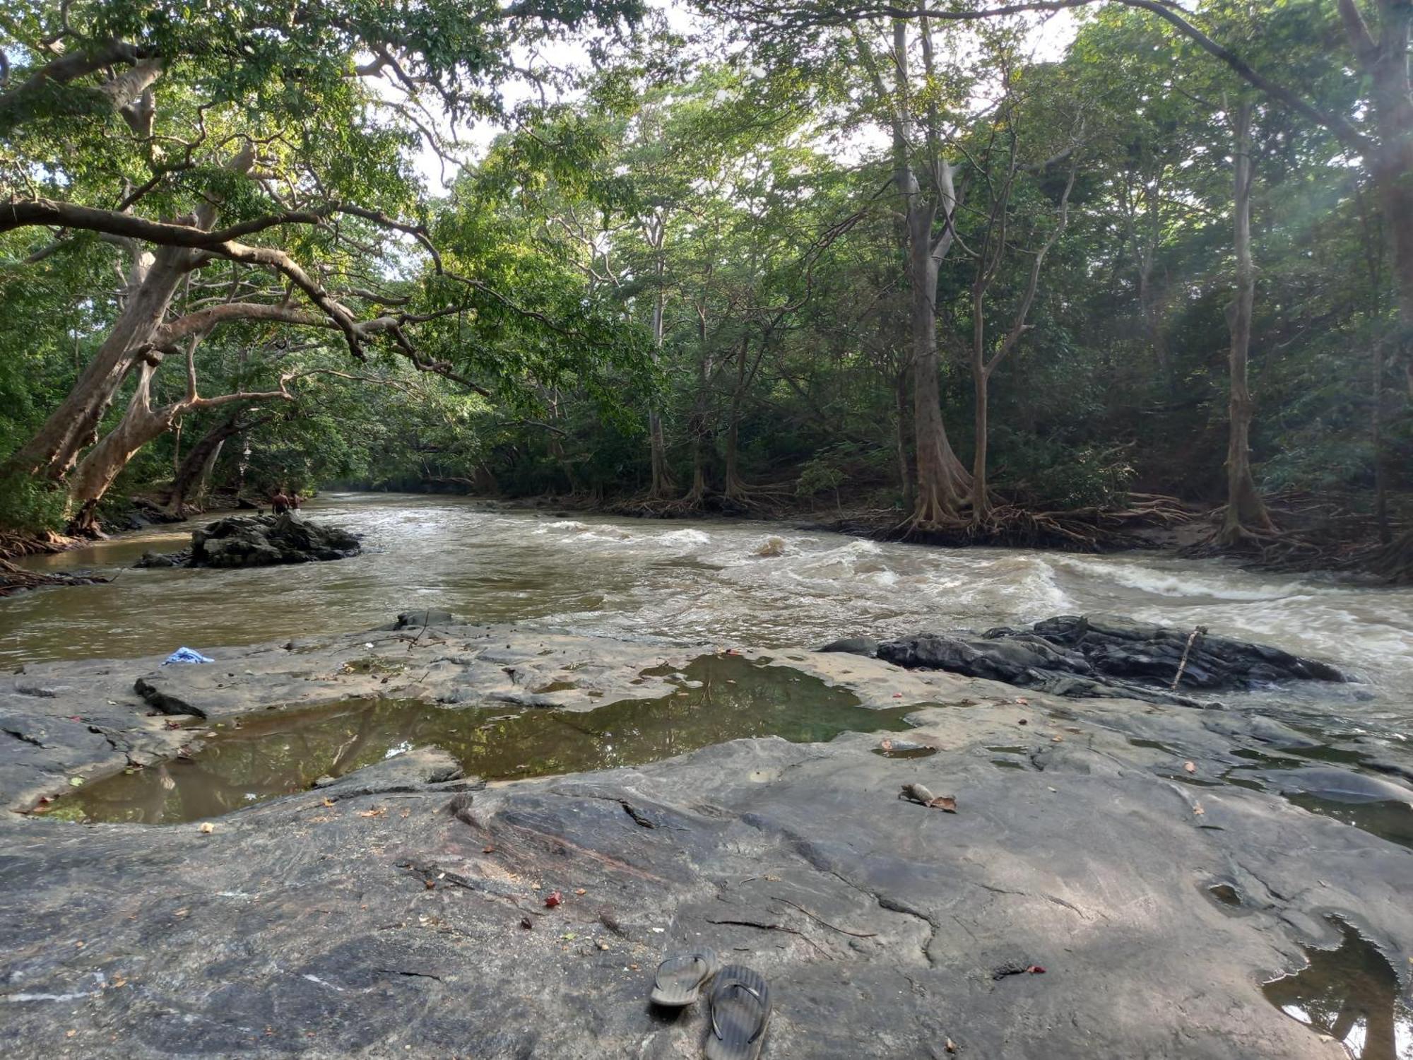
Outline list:
[[[326,642],[209,649],[208,664],[153,656],[0,674],[0,807],[30,810],[72,780],[196,753],[205,729],[175,728],[191,719],[359,698],[589,711],[674,691],[666,673],[709,650],[469,626],[445,612],[431,612],[428,625],[427,612],[408,613],[401,628]]]

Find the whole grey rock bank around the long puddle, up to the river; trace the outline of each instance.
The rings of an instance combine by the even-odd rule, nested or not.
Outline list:
[[[181,748],[201,762],[220,742],[203,734],[274,704],[588,718],[675,695],[702,650],[448,618],[213,666],[25,667],[0,688],[0,791],[16,807]],[[1369,1036],[1368,1060],[1399,1056],[1392,1037],[1371,1049],[1413,1029],[1413,849],[1332,815],[1354,804],[1314,813],[1260,783],[1277,755],[1318,760],[1307,735],[855,656],[740,659],[907,708],[917,728],[485,786],[407,749],[175,825],[7,813],[17,1054],[697,1056],[702,1012],[664,1019],[646,992],[664,951],[712,946],[770,979],[767,1056],[941,1057],[951,1042],[988,1059],[1334,1060],[1331,1027],[1287,1012],[1318,1022],[1347,1001],[1334,1030]],[[205,718],[171,729],[154,707]],[[957,813],[900,800],[904,783]],[[1344,971],[1320,972],[1316,947]],[[1044,972],[1003,974],[1029,967]]]

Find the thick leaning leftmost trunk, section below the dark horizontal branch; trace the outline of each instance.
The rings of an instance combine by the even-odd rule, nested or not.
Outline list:
[[[140,351],[161,326],[177,284],[187,274],[189,253],[162,247],[155,254],[134,254],[127,304],[113,331],[59,407],[11,457],[13,471],[58,481],[73,466],[82,448],[93,441],[99,421],[138,362]]]

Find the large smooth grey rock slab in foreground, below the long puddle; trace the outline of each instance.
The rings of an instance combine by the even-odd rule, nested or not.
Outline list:
[[[1331,912],[1393,954],[1413,943],[1413,855],[1335,821],[1239,790],[1195,815],[1118,763],[889,762],[875,739],[739,741],[482,791],[421,752],[211,834],[13,827],[10,1042],[688,1057],[701,1006],[673,1019],[646,994],[664,953],[711,946],[770,981],[767,1056],[942,1056],[951,1039],[978,1057],[1334,1060],[1260,982],[1299,967],[1296,940]],[[958,813],[899,800],[904,779],[957,793]],[[1218,881],[1245,916],[1208,895]],[[1015,964],[1046,974],[993,978]]]

